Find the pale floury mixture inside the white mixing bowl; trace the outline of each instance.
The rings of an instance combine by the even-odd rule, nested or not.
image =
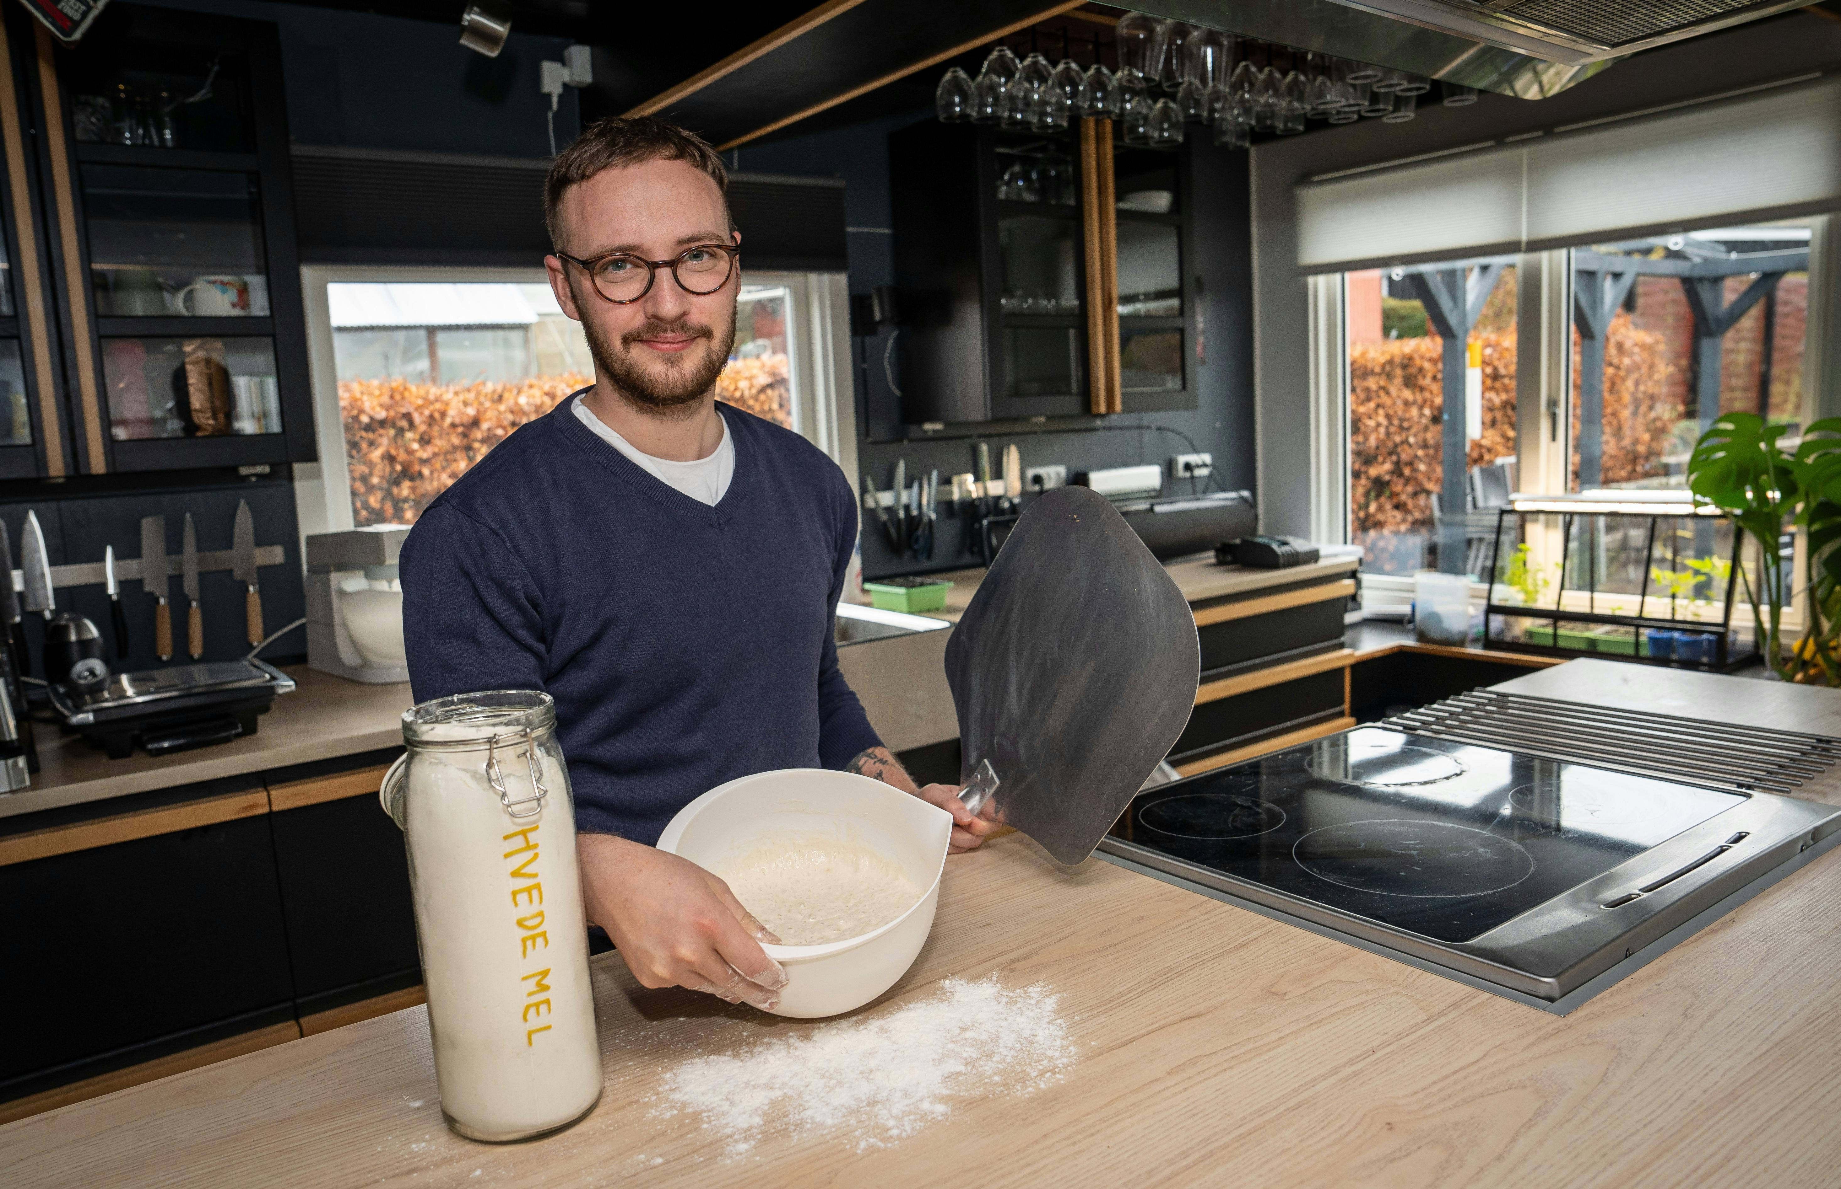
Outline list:
[[[786,946],[862,937],[920,900],[897,863],[862,843],[795,837],[757,847],[718,872]]]

